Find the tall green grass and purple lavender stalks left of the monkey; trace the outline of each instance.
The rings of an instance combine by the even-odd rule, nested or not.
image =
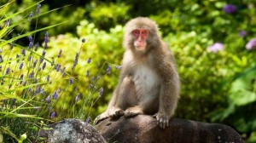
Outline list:
[[[80,50],[85,43],[84,38],[80,49],[74,55],[73,66],[70,68],[58,63],[61,59],[61,49],[57,57],[47,56],[49,43],[47,29],[65,22],[40,29],[37,29],[36,25],[34,31],[21,32],[9,38],[15,31],[15,26],[20,23],[26,24],[32,20],[37,23],[41,15],[56,10],[41,13],[41,2],[15,14],[8,14],[8,9],[14,1],[0,7],[0,26],[3,26],[0,31],[0,142],[39,141],[41,139],[37,135],[38,129],[43,128],[45,123],[54,122],[62,117],[88,117],[90,108],[95,103],[95,100],[91,99],[92,94],[98,92],[102,95],[103,92],[102,88],[95,88],[99,78],[91,79],[88,89],[90,94],[83,100],[79,90],[74,89],[74,84],[79,83],[79,76],[73,71],[79,64]],[[18,14],[26,16],[12,23]],[[36,42],[37,32],[45,33],[44,41]],[[16,44],[18,40],[26,40],[27,46]],[[90,64],[90,60],[90,58],[87,60],[87,64]],[[58,88],[52,92],[56,84]],[[66,100],[63,97],[67,96],[70,90],[73,90],[73,95],[68,96],[73,100],[69,102],[69,106],[73,112],[65,116]],[[62,100],[59,100],[60,97]],[[82,104],[79,109],[78,101]],[[55,105],[60,102],[63,102],[62,106],[56,111]],[[84,110],[89,110],[89,112],[84,113]]]

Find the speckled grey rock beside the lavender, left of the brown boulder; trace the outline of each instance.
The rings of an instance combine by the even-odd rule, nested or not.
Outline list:
[[[78,119],[64,119],[47,128],[39,131],[39,136],[46,138],[47,143],[106,143],[94,127]]]

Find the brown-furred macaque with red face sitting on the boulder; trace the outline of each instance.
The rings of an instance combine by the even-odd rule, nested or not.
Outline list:
[[[125,25],[125,54],[119,84],[108,109],[96,117],[154,115],[161,129],[169,126],[179,98],[179,77],[171,51],[153,20],[138,17]]]

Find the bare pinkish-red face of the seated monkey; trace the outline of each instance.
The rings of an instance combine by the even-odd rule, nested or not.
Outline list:
[[[134,47],[137,50],[144,50],[146,48],[146,38],[148,37],[148,30],[135,29],[132,31],[132,35],[135,37]]]

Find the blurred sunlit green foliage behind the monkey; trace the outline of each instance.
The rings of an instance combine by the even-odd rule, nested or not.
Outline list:
[[[7,2],[2,0],[0,5]],[[10,12],[37,2],[18,0]],[[42,12],[61,9],[39,17],[37,23],[17,26],[12,34],[32,31],[36,25],[40,28],[68,20],[48,31],[47,53],[54,57],[62,49],[63,57],[58,60],[62,66],[73,65],[81,39],[86,39],[74,71],[81,75],[83,82],[76,83],[74,89],[85,100],[93,82],[91,77],[98,76],[101,78],[97,88],[104,89],[88,113],[90,117],[106,109],[117,84],[119,69],[115,67],[120,65],[124,53],[123,26],[134,17],[146,16],[157,22],[160,35],[176,58],[182,89],[175,117],[224,123],[236,129],[247,142],[256,142],[256,49],[253,49],[256,43],[251,49],[246,48],[256,37],[254,0],[45,0],[41,4]],[[227,7],[229,4],[235,8]],[[37,39],[44,39],[44,33],[38,33]],[[22,40],[19,43],[26,44]],[[214,43],[223,47],[212,51],[210,46]],[[86,65],[88,58],[91,58],[90,65]],[[84,66],[90,69],[90,76],[85,80]],[[112,70],[107,73],[109,66]],[[61,79],[57,81],[60,82]],[[49,90],[55,89],[49,87]],[[96,99],[98,94],[93,97]],[[65,112],[59,114],[62,117],[70,109],[66,102],[58,102],[61,106],[67,104]]]

